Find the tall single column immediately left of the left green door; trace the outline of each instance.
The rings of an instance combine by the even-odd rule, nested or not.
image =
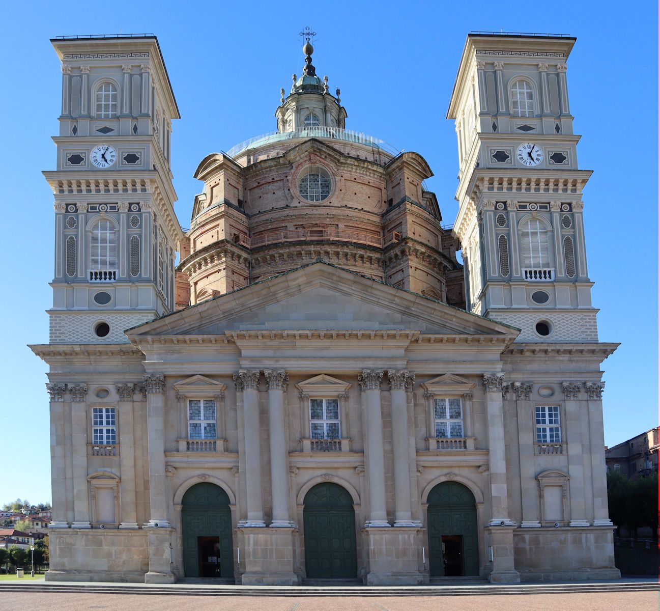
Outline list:
[[[167,479],[165,474],[165,377],[143,376],[147,391],[147,445],[149,449],[149,515],[145,528],[169,528]]]

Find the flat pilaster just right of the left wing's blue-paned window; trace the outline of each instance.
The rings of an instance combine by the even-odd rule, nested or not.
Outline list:
[[[135,384],[116,384],[119,396],[119,473],[121,474],[121,503],[119,528],[137,528],[135,505],[135,449],[133,446],[133,394]]]

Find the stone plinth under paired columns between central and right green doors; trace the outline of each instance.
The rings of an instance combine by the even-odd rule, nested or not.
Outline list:
[[[366,528],[370,572],[367,585],[422,585],[416,526]]]

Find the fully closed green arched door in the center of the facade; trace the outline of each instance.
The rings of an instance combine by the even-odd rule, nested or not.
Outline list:
[[[305,495],[302,516],[307,577],[357,577],[355,511],[346,489],[337,484],[315,485]]]

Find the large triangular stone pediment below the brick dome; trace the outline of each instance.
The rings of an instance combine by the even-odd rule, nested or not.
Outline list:
[[[222,335],[333,330],[510,336],[514,328],[324,262],[302,266],[127,332]]]

